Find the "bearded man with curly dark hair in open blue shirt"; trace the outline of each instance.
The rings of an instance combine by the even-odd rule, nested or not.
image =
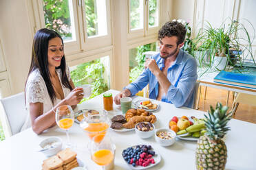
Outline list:
[[[185,36],[182,23],[165,23],[158,32],[160,53],[146,60],[142,74],[114,97],[115,103],[120,104],[120,98],[136,95],[149,84],[150,99],[165,101],[177,108],[193,108],[197,64],[189,53],[180,49]]]

